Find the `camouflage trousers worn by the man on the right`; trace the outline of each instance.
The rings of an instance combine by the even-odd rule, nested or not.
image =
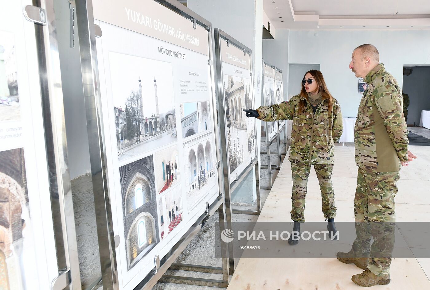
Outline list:
[[[358,170],[354,198],[357,237],[352,252],[359,257],[369,257],[367,268],[378,276],[390,273],[395,241],[394,197],[399,179],[399,171],[369,173]]]

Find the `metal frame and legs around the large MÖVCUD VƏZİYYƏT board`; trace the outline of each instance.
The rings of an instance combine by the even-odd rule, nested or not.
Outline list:
[[[217,160],[219,156],[223,156],[224,150],[221,146],[221,136],[218,128],[218,113],[220,104],[215,98],[215,73],[213,67],[213,37],[212,37],[212,24],[206,19],[200,17],[186,6],[182,5],[176,0],[154,0],[157,3],[169,8],[173,12],[190,20],[190,25],[196,27],[197,24],[204,27],[208,31],[209,39],[209,63],[211,73],[211,90],[212,90],[212,104],[215,105],[213,113],[214,130],[215,130],[215,147],[217,153]],[[103,134],[102,123],[102,110],[101,110],[101,95],[99,88],[97,88],[98,79],[98,65],[97,54],[95,47],[95,30],[98,30],[100,36],[100,29],[94,24],[92,0],[81,0],[76,3],[77,24],[79,30],[80,54],[81,54],[81,69],[83,75],[83,89],[86,103],[86,119],[88,128],[89,139],[89,152],[90,163],[92,172],[92,183],[94,190],[95,212],[97,220],[98,244],[100,251],[101,273],[104,290],[119,290],[118,273],[117,273],[117,258],[115,253],[116,243],[114,237],[114,230],[112,226],[111,214],[111,198],[107,186],[107,159]],[[97,92],[97,94],[96,94]],[[221,118],[220,118],[221,119]],[[200,285],[200,286],[215,286],[227,287],[230,281],[230,263],[228,257],[227,243],[221,240],[221,261],[222,267],[189,265],[183,263],[173,263],[179,256],[182,250],[190,243],[192,238],[197,235],[200,228],[206,223],[206,220],[218,211],[219,230],[220,232],[226,229],[229,217],[225,216],[224,207],[230,206],[230,201],[227,195],[224,195],[225,188],[224,179],[221,178],[226,170],[219,161],[216,162],[218,168],[218,186],[219,196],[212,202],[211,205],[206,203],[206,211],[199,217],[199,219],[188,229],[188,231],[181,237],[181,239],[172,247],[172,249],[160,260],[159,256],[154,257],[154,269],[146,275],[142,281],[135,287],[135,290],[150,290],[157,281]],[[228,185],[227,185],[228,186]],[[225,205],[224,205],[225,203]],[[231,217],[230,217],[231,218]],[[186,276],[172,276],[164,275],[168,269],[187,270],[194,272],[206,272],[222,274],[222,280],[206,279],[206,278],[190,278]]]

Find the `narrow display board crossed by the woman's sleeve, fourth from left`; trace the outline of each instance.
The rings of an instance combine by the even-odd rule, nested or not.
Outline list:
[[[263,64],[264,73],[264,92],[263,92],[263,104],[264,106],[270,106],[273,104],[279,104],[276,98],[276,87],[275,87],[275,70],[270,65],[264,62]],[[273,140],[278,134],[277,128],[278,122],[267,122],[266,136],[269,136],[269,140]]]

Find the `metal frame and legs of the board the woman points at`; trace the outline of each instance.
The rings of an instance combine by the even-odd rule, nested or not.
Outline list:
[[[226,107],[225,107],[225,94],[224,94],[224,77],[222,72],[222,60],[221,60],[221,42],[227,42],[227,47],[233,45],[238,49],[242,50],[244,55],[248,54],[250,59],[250,71],[251,71],[251,83],[252,88],[254,87],[254,77],[253,77],[253,62],[252,62],[252,50],[231,37],[229,34],[225,33],[219,28],[214,29],[214,38],[215,38],[215,71],[216,71],[216,80],[217,80],[217,101],[218,101],[218,122],[220,127],[221,140],[223,144],[227,144],[227,119],[226,119]],[[253,95],[254,104],[255,104],[255,96]],[[254,122],[255,132],[257,131],[257,122]],[[222,166],[224,168],[224,192],[225,192],[225,214],[227,220],[227,229],[232,229],[232,215],[233,214],[251,214],[251,215],[259,215],[261,213],[261,201],[260,201],[260,165],[258,161],[258,144],[257,144],[257,135],[254,138],[255,142],[255,156],[252,158],[249,165],[236,176],[236,179],[230,183],[230,172],[228,170],[228,152],[227,150],[222,151],[221,161]],[[239,186],[247,174],[255,170],[255,183],[256,183],[256,192],[257,192],[257,210],[241,210],[241,209],[232,209],[231,207],[231,194],[233,191]],[[234,255],[233,255],[233,243],[228,244],[228,256],[230,263],[230,274],[232,275],[234,272]]]

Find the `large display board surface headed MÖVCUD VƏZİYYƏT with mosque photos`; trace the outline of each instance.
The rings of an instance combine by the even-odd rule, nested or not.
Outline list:
[[[209,36],[154,0],[93,0],[121,289],[219,196]]]

